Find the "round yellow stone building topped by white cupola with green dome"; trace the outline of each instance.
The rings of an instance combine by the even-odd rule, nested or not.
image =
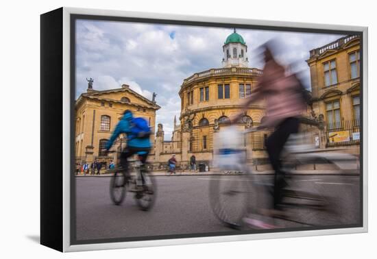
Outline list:
[[[221,128],[228,127],[224,122],[239,112],[262,75],[260,69],[247,67],[247,45],[235,30],[224,42],[222,64],[222,68],[195,73],[184,79],[179,91],[179,123],[174,118],[171,140],[164,140],[163,125],[158,126],[156,163],[166,164],[172,154],[184,168],[188,167],[192,155],[195,155],[197,162],[212,163],[216,134]],[[239,121],[239,129],[260,124],[264,114],[265,103],[254,103]],[[254,151],[254,158],[266,158],[263,150],[265,137],[267,135],[262,134],[258,138],[260,148],[259,152]],[[245,149],[248,143],[250,140],[245,139]]]

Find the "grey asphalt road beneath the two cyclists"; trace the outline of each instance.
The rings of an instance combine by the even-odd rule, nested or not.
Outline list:
[[[269,181],[271,175],[259,175]],[[139,210],[134,193],[121,206],[110,200],[110,177],[76,177],[77,240],[234,232],[222,225],[210,208],[210,181],[231,183],[240,176],[157,176],[157,197],[150,211]],[[295,189],[333,197],[338,214],[293,208],[301,223],[278,220],[283,227],[354,224],[360,220],[360,186],[357,176],[300,175],[291,181]],[[263,198],[260,198],[263,200]]]

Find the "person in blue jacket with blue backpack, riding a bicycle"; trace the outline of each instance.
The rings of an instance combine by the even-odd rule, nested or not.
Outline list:
[[[127,135],[127,147],[121,152],[121,167],[123,167],[126,173],[128,173],[127,158],[138,153],[138,156],[141,156],[141,162],[145,164],[149,150],[151,149],[150,130],[147,125],[143,125],[142,120],[142,118],[134,118],[130,110],[125,110],[121,121],[119,121],[114,132],[112,132],[111,138],[106,143],[106,150],[108,151],[119,134],[124,133]],[[141,126],[138,127],[140,121]]]

